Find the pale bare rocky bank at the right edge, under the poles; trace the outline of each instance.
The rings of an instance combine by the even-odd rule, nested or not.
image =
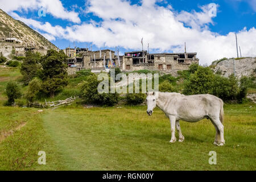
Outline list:
[[[214,73],[228,77],[234,73],[234,67],[236,76],[241,78],[242,76],[256,76],[256,58],[246,57],[241,59],[225,59],[213,61],[210,67]]]

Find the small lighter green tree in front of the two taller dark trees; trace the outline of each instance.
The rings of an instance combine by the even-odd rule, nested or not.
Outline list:
[[[38,95],[39,91],[42,89],[42,81],[39,78],[34,78],[28,84],[28,90],[25,94],[25,98],[27,102],[34,102],[36,96]]]

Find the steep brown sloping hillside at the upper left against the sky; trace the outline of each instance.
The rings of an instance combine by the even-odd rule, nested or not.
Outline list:
[[[38,48],[56,48],[44,36],[32,30],[26,24],[19,20],[13,19],[11,16],[0,9],[0,37],[6,38],[10,35],[23,41],[23,44],[34,43]]]

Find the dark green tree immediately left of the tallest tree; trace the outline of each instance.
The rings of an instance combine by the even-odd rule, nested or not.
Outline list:
[[[23,63],[20,66],[20,73],[23,75],[22,80],[25,85],[28,85],[40,70],[40,60],[40,53],[26,52],[26,57],[24,57]]]

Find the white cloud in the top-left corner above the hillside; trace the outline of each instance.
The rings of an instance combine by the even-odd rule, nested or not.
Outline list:
[[[51,14],[55,18],[67,19],[73,23],[80,23],[79,14],[74,11],[67,11],[64,9],[62,3],[59,0],[0,0],[1,9],[7,13],[13,11],[28,11],[39,10],[41,7],[46,9],[46,13]]]

